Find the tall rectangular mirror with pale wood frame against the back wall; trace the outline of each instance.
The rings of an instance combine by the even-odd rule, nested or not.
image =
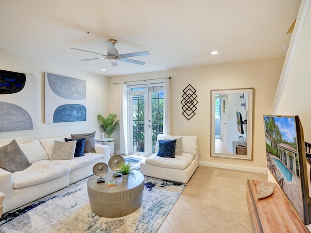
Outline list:
[[[211,156],[252,160],[253,90],[211,90]]]

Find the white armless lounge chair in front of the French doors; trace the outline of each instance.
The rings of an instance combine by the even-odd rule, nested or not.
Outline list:
[[[159,149],[159,140],[182,138],[182,153],[175,158],[156,155]],[[177,145],[177,144],[176,144]],[[163,180],[188,183],[199,166],[199,146],[197,136],[177,136],[159,134],[155,144],[155,154],[140,163],[140,172]]]

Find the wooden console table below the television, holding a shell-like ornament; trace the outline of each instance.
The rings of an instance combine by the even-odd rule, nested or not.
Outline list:
[[[309,233],[277,184],[269,197],[256,199],[256,187],[260,183],[254,180],[246,182],[246,200],[253,233]]]

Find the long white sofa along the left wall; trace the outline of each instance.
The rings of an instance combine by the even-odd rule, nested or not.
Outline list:
[[[18,144],[31,166],[11,173],[0,168],[0,193],[5,195],[3,213],[37,200],[59,189],[93,175],[96,163],[108,164],[109,146],[95,144],[95,151],[74,159],[50,160],[55,141],[65,141],[65,135]]]

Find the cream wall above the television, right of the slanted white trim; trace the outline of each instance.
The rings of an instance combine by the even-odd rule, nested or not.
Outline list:
[[[276,108],[278,115],[298,115],[305,141],[311,142],[311,9],[303,23],[293,61]]]

